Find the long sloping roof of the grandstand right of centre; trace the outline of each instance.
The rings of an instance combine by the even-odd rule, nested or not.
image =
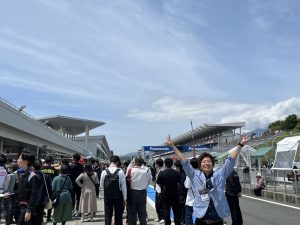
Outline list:
[[[222,124],[204,124],[194,129],[194,138],[207,138],[212,135],[218,135],[227,131],[232,131],[245,126],[245,122],[222,123]],[[192,142],[192,131],[188,131],[172,139],[175,144],[184,144]]]

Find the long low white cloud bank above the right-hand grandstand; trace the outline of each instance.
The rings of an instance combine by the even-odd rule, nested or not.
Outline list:
[[[191,102],[164,97],[154,102],[149,110],[135,109],[127,117],[162,122],[197,120],[202,123],[246,122],[246,129],[266,127],[290,114],[300,114],[300,98],[290,98],[274,105],[241,102]]]

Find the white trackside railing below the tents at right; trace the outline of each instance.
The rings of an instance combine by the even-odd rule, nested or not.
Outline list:
[[[246,169],[246,170],[245,170]],[[248,171],[247,171],[248,170]],[[293,176],[291,176],[293,171]],[[300,169],[275,170],[270,168],[248,169],[238,168],[240,182],[243,187],[252,189],[256,186],[256,174],[260,173],[265,182],[265,190],[285,194],[300,193]],[[291,179],[291,177],[293,179]]]

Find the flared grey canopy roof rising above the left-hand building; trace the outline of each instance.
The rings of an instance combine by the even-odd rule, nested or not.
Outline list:
[[[86,126],[88,127],[88,130],[92,130],[105,124],[102,121],[86,120],[60,115],[43,117],[38,120],[44,122],[47,126],[50,126],[55,130],[64,128],[64,132],[74,135],[84,133],[86,131]]]

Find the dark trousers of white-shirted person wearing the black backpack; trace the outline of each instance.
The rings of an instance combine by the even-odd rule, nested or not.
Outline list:
[[[124,200],[121,195],[118,199],[106,199],[104,198],[104,213],[105,213],[105,225],[111,225],[112,215],[115,211],[115,225],[122,225],[122,215],[124,211]]]

